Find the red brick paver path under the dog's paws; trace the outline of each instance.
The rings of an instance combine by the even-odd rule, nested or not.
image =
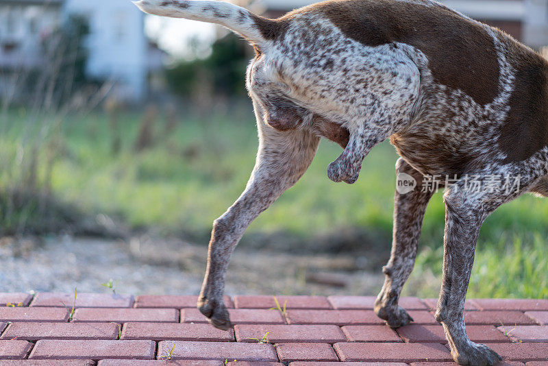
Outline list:
[[[71,317],[71,294],[0,293],[0,366],[164,365],[169,355],[174,366],[456,365],[433,299],[401,299],[415,322],[392,330],[374,297],[279,296],[284,312],[273,296],[227,296],[227,332],[207,324],[196,300],[79,293]],[[469,300],[465,318],[501,365],[548,366],[548,300]]]

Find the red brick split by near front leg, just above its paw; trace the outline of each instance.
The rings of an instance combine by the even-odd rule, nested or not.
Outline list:
[[[410,324],[397,329],[398,334],[406,342],[411,343],[446,343],[442,326],[421,326]],[[466,326],[466,333],[474,342],[510,342],[508,337],[494,326]]]

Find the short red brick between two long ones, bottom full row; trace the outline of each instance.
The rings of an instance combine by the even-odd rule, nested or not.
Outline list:
[[[338,361],[333,347],[327,343],[279,343],[279,361]]]

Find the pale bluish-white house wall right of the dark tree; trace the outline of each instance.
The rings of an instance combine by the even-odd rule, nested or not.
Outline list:
[[[66,0],[64,12],[82,14],[90,23],[88,75],[115,81],[121,99],[145,97],[148,43],[142,12],[125,0]]]

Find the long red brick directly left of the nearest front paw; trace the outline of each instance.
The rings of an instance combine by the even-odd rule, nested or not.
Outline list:
[[[336,343],[340,361],[411,362],[451,361],[451,354],[438,343]]]

